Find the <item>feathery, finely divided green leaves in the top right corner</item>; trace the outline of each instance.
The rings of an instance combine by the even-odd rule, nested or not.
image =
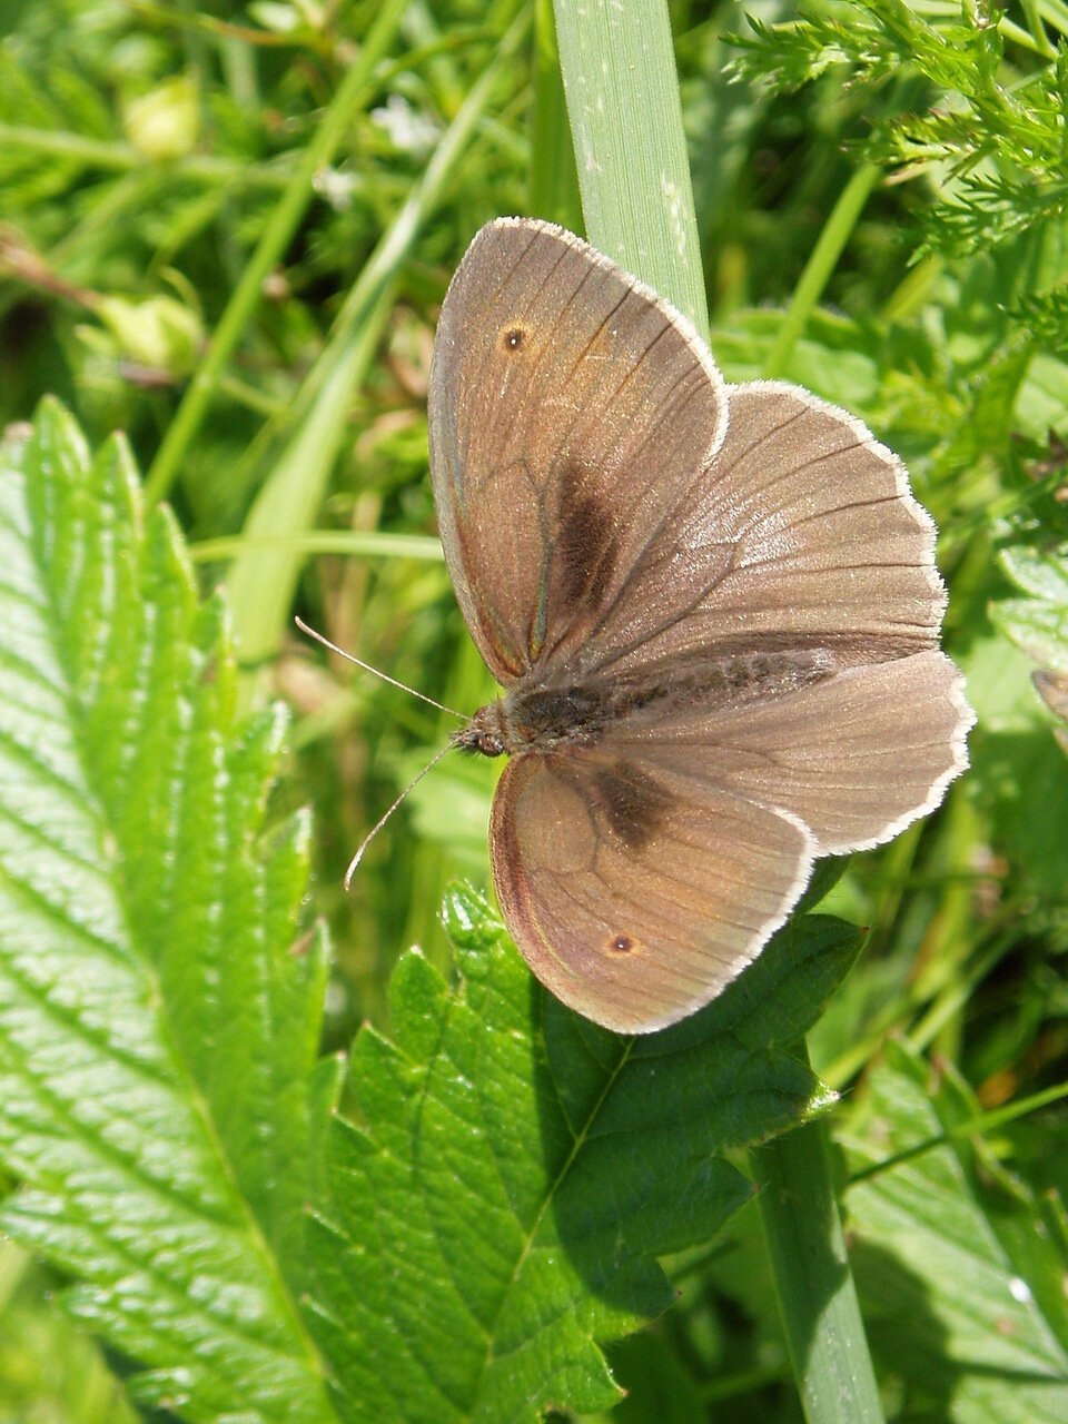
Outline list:
[[[917,255],[968,255],[1055,221],[1068,209],[1062,172],[1068,56],[1041,34],[998,24],[1000,7],[985,0],[951,17],[950,7],[927,19],[907,0],[846,0],[800,4],[800,19],[749,23],[738,36],[736,73],[789,93],[829,71],[847,74],[853,88],[897,90],[871,114],[864,151],[899,177],[947,177],[948,201],[927,212]],[[1005,33],[1030,60],[1044,63],[1005,81]],[[1051,63],[1049,63],[1051,61]],[[900,112],[900,91],[923,85],[933,104],[913,100]]]

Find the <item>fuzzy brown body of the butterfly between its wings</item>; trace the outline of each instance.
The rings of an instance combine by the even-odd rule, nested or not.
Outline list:
[[[834,671],[827,649],[770,654],[708,651],[619,678],[594,675],[551,684],[520,682],[480,708],[453,738],[483,756],[594,746],[609,728],[661,723],[691,708],[712,711],[795,692]]]

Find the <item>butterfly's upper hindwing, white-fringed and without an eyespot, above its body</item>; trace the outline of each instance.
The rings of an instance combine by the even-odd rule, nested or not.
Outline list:
[[[934,525],[901,461],[797,386],[728,387],[728,429],[591,631],[584,671],[708,649],[820,648],[837,666],[937,645]]]

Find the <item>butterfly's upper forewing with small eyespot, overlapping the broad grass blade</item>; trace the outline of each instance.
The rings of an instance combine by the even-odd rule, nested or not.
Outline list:
[[[723,382],[689,323],[551,224],[483,228],[446,295],[429,390],[449,572],[506,686],[611,618],[665,510],[723,431]]]

